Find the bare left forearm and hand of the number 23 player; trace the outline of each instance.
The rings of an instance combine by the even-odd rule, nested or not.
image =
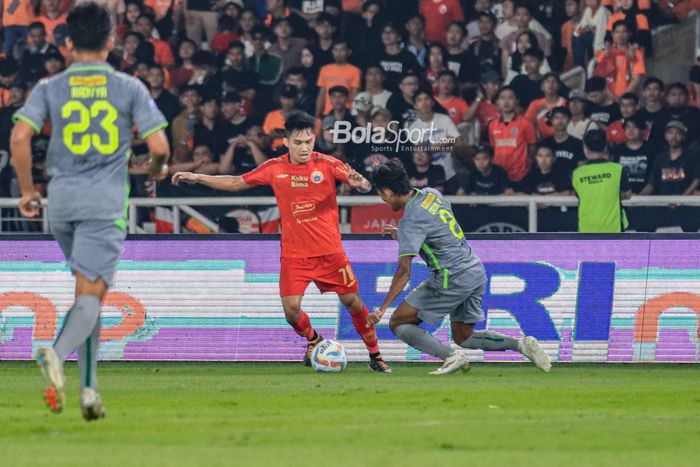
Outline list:
[[[34,190],[32,181],[32,137],[34,129],[24,120],[17,120],[12,137],[10,152],[12,163],[17,172],[19,189],[22,198],[19,201],[19,211],[25,217],[36,217],[39,214],[41,195]]]

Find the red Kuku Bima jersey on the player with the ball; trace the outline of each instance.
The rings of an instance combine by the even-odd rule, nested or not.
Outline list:
[[[289,154],[270,159],[243,175],[250,186],[272,187],[282,220],[282,256],[311,258],[343,252],[340,242],[336,182],[348,182],[348,166],[311,153],[305,164],[292,164]]]

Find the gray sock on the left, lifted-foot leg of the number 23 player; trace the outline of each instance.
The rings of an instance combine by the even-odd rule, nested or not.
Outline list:
[[[81,295],[75,299],[75,304],[63,320],[63,327],[53,345],[61,361],[64,361],[73,349],[83,345],[93,334],[99,317],[99,298],[94,295]]]

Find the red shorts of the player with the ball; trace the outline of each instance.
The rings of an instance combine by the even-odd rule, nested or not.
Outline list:
[[[345,253],[314,258],[282,258],[281,297],[304,295],[311,281],[322,293],[344,295],[357,292],[357,278]]]

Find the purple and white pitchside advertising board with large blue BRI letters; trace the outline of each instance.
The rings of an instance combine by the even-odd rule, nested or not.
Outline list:
[[[279,299],[279,240],[172,238],[126,242],[103,306],[101,359],[301,360],[305,341],[286,323]],[[700,361],[700,239],[516,238],[470,241],[488,273],[487,320],[478,327],[533,335],[554,361]],[[396,242],[344,244],[363,300],[377,309]],[[410,288],[427,277],[416,262]],[[0,241],[0,359],[30,359],[50,344],[72,294],[55,242]],[[311,284],[303,306],[324,337],[348,346],[351,360],[366,359],[337,296]],[[388,359],[433,360],[398,341],[388,318],[378,329]],[[449,323],[429,330],[450,341]],[[468,354],[524,361],[514,352]]]

